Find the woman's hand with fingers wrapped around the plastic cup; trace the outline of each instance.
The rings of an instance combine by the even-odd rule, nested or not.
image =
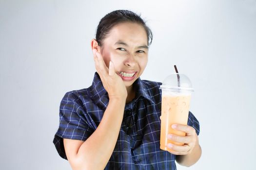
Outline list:
[[[173,143],[168,143],[167,147],[172,150],[169,152],[176,155],[185,155],[185,154],[191,153],[195,148],[196,144],[198,143],[198,136],[197,136],[196,130],[191,126],[182,125],[182,124],[173,124],[172,128],[178,131],[185,132],[186,136],[168,134],[167,135],[168,139],[175,142],[184,143],[184,145],[182,146],[175,145]]]

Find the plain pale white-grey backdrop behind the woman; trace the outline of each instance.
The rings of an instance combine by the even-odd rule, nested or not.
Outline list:
[[[70,170],[54,134],[67,91],[91,85],[100,18],[141,13],[154,38],[142,79],[187,74],[200,160],[178,170],[254,170],[256,0],[0,0],[0,169]]]

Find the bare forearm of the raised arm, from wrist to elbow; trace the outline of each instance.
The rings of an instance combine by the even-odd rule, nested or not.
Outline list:
[[[117,143],[124,107],[125,99],[109,101],[98,128],[79,148],[80,170],[105,168]]]

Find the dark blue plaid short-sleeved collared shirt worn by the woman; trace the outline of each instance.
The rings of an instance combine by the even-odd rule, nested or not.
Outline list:
[[[138,78],[134,85],[136,98],[125,105],[118,140],[104,170],[176,170],[176,155],[160,149],[161,83]],[[89,88],[65,94],[53,139],[62,158],[67,159],[62,138],[85,141],[98,127],[108,102],[97,72]],[[199,122],[191,112],[188,125],[199,134]]]

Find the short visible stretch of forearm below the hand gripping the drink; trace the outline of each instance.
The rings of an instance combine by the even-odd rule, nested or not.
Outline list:
[[[202,153],[202,150],[197,139],[197,143],[193,151],[190,154],[177,155],[176,161],[179,165],[190,167],[199,160],[201,153]]]

